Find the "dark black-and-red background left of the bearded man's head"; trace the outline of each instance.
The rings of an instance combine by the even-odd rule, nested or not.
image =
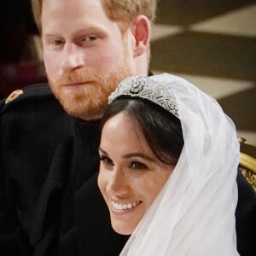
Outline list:
[[[0,8],[0,98],[27,84],[46,81],[33,36],[38,34],[30,0],[9,0]]]

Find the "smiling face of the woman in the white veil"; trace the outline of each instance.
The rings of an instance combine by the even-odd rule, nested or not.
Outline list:
[[[105,123],[99,148],[98,185],[108,205],[113,230],[135,230],[174,166],[161,162],[127,113]]]

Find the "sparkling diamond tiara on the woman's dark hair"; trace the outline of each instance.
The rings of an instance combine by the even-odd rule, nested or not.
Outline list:
[[[137,96],[147,99],[165,108],[179,119],[177,102],[172,92],[167,90],[165,85],[146,76],[132,76],[124,79],[116,90],[108,96],[108,104],[113,102],[118,96]]]

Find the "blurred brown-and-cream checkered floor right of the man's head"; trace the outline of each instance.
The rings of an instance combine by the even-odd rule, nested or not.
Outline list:
[[[256,145],[256,1],[160,0],[153,73],[188,79],[218,100]]]

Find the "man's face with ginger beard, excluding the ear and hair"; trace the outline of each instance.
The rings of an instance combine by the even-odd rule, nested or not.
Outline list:
[[[99,117],[108,95],[134,73],[128,37],[101,0],[44,0],[42,39],[50,88],[74,116]]]

